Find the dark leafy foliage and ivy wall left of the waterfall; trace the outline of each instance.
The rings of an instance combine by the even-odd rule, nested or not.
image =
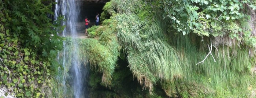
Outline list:
[[[52,4],[0,0],[0,84],[15,97],[52,97],[51,75],[56,74],[55,58],[62,49],[57,35],[62,27],[47,17]]]

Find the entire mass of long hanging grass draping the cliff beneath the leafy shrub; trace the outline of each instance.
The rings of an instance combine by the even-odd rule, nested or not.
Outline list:
[[[110,84],[120,45],[134,77],[150,92],[159,83],[169,97],[250,96],[255,89],[255,59],[248,56],[246,46],[227,35],[182,35],[172,30],[171,19],[163,19],[161,11],[143,17],[142,6],[140,0],[110,1],[105,11],[112,17],[99,28],[99,39],[81,43],[93,67],[103,72],[103,82]]]

